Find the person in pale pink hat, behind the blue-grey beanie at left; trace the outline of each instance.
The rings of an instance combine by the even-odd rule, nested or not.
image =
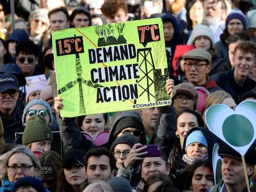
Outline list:
[[[36,79],[28,82],[28,90],[26,94],[26,103],[35,99],[40,99],[40,94],[43,88],[46,86],[46,81]]]

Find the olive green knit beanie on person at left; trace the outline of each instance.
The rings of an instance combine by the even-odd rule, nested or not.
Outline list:
[[[34,143],[41,140],[53,141],[53,133],[51,133],[44,117],[33,115],[28,119],[22,135],[22,144]]]

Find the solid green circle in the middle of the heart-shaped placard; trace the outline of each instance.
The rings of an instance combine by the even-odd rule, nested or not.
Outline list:
[[[230,115],[223,122],[223,136],[229,144],[242,147],[252,141],[254,137],[254,127],[249,119],[243,115]]]

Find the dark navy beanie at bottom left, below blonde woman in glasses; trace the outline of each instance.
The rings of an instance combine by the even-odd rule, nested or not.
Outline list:
[[[36,191],[36,192],[46,192],[43,183],[35,177],[22,177],[15,184],[13,192],[19,191]]]

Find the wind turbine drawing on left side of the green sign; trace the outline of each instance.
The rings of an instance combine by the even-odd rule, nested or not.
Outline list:
[[[60,88],[58,90],[58,93],[59,94],[64,93],[65,91],[69,90],[70,88],[73,88],[75,85],[77,85],[77,83],[79,83],[79,114],[86,114],[85,104],[83,101],[82,84],[85,84],[92,88],[99,88],[99,87],[103,87],[103,86],[98,85],[98,84],[93,84],[92,81],[84,80],[82,78],[83,70],[82,70],[82,65],[81,65],[80,57],[79,57],[78,53],[75,54],[75,73],[77,74],[77,79],[74,81],[70,81],[69,83],[64,85],[62,88]]]

